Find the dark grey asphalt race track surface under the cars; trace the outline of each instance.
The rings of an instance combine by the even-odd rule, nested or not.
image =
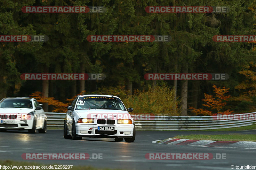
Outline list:
[[[250,131],[136,131],[133,143],[115,142],[113,138],[63,138],[62,130],[48,130],[45,134],[29,134],[27,131],[0,132],[0,160],[31,161],[42,164],[84,165],[99,168],[120,169],[228,169],[230,166],[256,166],[255,149],[163,145],[152,141],[187,134],[256,134]],[[226,154],[226,159],[211,160],[148,160],[146,153],[216,153]],[[22,153],[102,153],[102,159],[87,160],[23,160]],[[236,168],[235,168],[236,169]]]

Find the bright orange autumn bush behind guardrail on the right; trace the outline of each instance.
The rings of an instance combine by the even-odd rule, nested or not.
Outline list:
[[[212,86],[214,88],[213,92],[215,93],[215,96],[212,95],[208,95],[204,93],[204,99],[202,99],[202,101],[204,101],[205,104],[203,104],[203,106],[209,108],[210,110],[206,110],[206,109],[195,109],[193,107],[189,107],[189,109],[191,109],[192,113],[195,113],[196,115],[217,115],[217,114],[222,114],[222,115],[228,115],[231,114],[233,111],[228,110],[224,110],[224,107],[226,106],[226,102],[228,101],[228,99],[231,96],[225,96],[226,93],[228,93],[228,89],[226,89],[225,87],[220,88],[220,87],[216,87],[215,85]],[[215,113],[214,113],[214,112]],[[216,113],[217,112],[217,113]]]

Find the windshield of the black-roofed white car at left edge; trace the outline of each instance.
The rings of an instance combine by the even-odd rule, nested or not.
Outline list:
[[[32,109],[31,99],[4,99],[0,103],[0,108],[29,108]]]

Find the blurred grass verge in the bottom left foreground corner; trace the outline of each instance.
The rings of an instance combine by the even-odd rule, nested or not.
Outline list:
[[[13,170],[28,169],[24,166],[34,166],[32,168],[29,168],[29,169],[43,170],[44,168],[41,169],[41,166],[47,166],[46,169],[50,169],[50,168],[48,168],[49,166],[54,167],[54,165],[58,165],[58,164],[43,164],[43,163],[36,163],[36,162],[21,162],[21,161],[12,161],[12,160],[0,160],[0,165],[1,166],[8,166],[7,169],[9,169],[9,166],[12,165],[11,169],[13,169]],[[13,166],[22,166],[22,168],[13,167]],[[36,168],[36,166],[38,166],[38,167],[40,166],[40,167]],[[2,169],[5,169],[5,168],[2,168]],[[65,168],[60,168],[60,169],[65,169]],[[114,169],[108,169],[108,168],[104,168],[104,169],[94,168],[92,166],[72,166],[72,168],[69,168],[69,169],[71,169],[71,170],[114,170]],[[115,169],[115,170],[118,170],[118,169]]]

